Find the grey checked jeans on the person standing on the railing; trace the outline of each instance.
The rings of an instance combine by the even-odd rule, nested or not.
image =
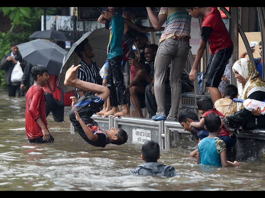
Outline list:
[[[189,49],[189,41],[169,38],[159,43],[156,53],[156,60],[154,62],[154,92],[157,103],[157,115],[166,115],[164,100],[165,79],[166,71],[171,63],[171,109],[168,115],[168,120],[178,120],[178,105],[181,96],[181,74],[187,60]]]

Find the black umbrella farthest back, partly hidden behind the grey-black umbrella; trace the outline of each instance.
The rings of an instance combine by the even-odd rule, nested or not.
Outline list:
[[[36,31],[33,34],[31,34],[28,38],[50,39],[53,41],[69,41],[69,39],[65,36],[63,32],[59,32],[56,30]]]

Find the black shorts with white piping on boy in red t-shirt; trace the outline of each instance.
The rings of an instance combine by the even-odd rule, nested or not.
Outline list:
[[[206,78],[206,87],[219,87],[222,76],[225,72],[227,61],[231,58],[233,47],[227,47],[216,52],[214,55],[209,54],[207,69],[203,78]]]

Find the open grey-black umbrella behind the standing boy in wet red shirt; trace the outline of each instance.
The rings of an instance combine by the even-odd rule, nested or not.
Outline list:
[[[67,53],[62,47],[42,39],[22,43],[17,47],[22,58],[30,64],[42,64],[47,67],[49,74],[59,76],[64,55]]]

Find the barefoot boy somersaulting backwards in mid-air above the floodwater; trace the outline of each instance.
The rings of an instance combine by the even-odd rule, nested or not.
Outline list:
[[[109,89],[105,86],[79,80],[76,77],[81,65],[72,65],[65,75],[65,86],[73,86],[86,92],[79,100],[72,98],[72,110],[69,118],[79,135],[89,144],[95,147],[105,147],[107,144],[121,145],[127,142],[128,135],[123,129],[106,130],[99,128],[97,122],[90,118],[109,97]],[[95,95],[94,95],[95,94]]]

